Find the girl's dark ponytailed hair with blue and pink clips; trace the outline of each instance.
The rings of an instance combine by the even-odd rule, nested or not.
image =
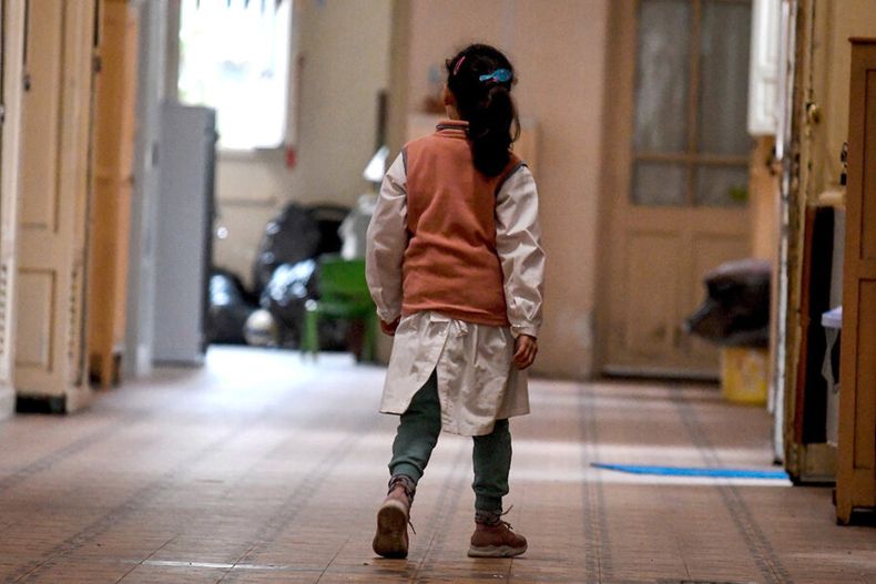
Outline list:
[[[508,165],[511,143],[520,135],[511,99],[515,81],[511,62],[488,44],[470,44],[447,60],[447,86],[459,116],[468,122],[475,167],[487,176]]]

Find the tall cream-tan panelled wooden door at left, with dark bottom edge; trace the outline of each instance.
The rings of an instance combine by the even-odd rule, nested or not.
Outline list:
[[[22,103],[17,283],[19,398],[70,411],[84,379],[93,0],[31,1]]]

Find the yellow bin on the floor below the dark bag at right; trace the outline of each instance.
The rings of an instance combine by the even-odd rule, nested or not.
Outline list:
[[[730,402],[764,406],[766,403],[770,352],[751,347],[721,349],[721,391]]]

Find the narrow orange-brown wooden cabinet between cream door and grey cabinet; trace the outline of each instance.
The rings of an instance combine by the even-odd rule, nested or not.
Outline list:
[[[101,387],[119,381],[134,170],[137,12],[126,0],[102,4],[101,74],[94,119],[89,264],[89,369]]]

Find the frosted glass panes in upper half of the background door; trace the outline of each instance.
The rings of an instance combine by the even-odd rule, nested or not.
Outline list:
[[[751,2],[641,0],[632,199],[747,202]]]

